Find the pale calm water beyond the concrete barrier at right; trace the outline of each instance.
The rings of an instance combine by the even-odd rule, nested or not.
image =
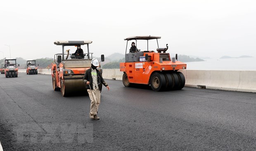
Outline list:
[[[256,58],[204,59],[187,62],[187,70],[256,70]]]

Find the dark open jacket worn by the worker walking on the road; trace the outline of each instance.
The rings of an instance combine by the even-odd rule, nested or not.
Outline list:
[[[97,70],[97,69],[95,69],[95,70],[96,70],[96,72],[97,72],[97,83],[98,83],[98,86],[99,86],[99,88],[100,88],[100,90],[101,90],[102,85],[101,85],[100,83],[102,83],[104,86],[108,86],[108,85],[107,85],[107,83],[104,81],[104,79],[102,78],[102,75],[101,75],[100,71]],[[90,86],[91,86],[91,88],[92,88],[92,90],[93,90],[93,86],[92,86],[92,74],[91,74],[91,72],[92,72],[92,68],[90,68],[90,69],[88,69],[88,70],[85,71],[85,75],[83,76],[83,81],[84,81],[85,84],[87,83],[87,81],[89,81],[89,82],[90,82]],[[86,88],[87,88],[87,89],[90,89],[90,87],[89,87],[87,84],[86,84]]]

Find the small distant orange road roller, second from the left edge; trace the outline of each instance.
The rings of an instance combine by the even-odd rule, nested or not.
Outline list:
[[[5,59],[5,77],[18,77],[18,66],[16,59]]]

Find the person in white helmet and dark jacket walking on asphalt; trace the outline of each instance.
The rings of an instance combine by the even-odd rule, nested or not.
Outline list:
[[[92,59],[91,68],[85,71],[85,75],[83,77],[83,81],[86,84],[86,88],[91,100],[90,107],[90,118],[98,120],[100,117],[97,115],[99,105],[100,105],[100,83],[107,87],[109,90],[109,86],[102,78],[102,75],[97,67],[99,66],[99,60]]]

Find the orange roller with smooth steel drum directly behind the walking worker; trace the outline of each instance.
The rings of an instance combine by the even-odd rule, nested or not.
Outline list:
[[[54,91],[60,90],[62,96],[68,96],[73,93],[87,93],[83,76],[85,71],[91,67],[92,53],[89,51],[89,44],[91,43],[92,41],[90,40],[54,42],[54,44],[62,46],[62,53],[55,54],[55,63],[52,64],[51,68]],[[81,50],[82,46],[87,49],[87,53]],[[64,48],[68,49],[64,51]],[[78,51],[76,51],[78,48],[79,53],[83,52],[83,54],[78,54]],[[72,50],[74,53],[70,54],[69,51]],[[101,61],[104,61],[104,55],[101,55]],[[97,69],[102,73],[100,66]],[[100,90],[101,88],[102,85]]]

